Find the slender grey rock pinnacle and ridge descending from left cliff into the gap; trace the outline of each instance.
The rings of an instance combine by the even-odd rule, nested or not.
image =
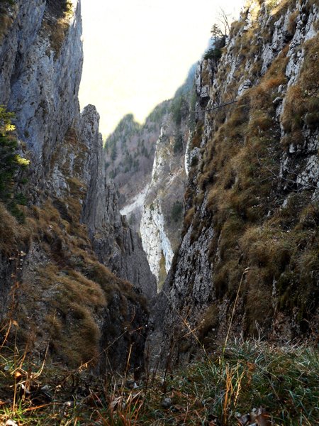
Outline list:
[[[88,187],[82,221],[88,226],[94,251],[99,261],[151,299],[156,293],[155,278],[140,237],[121,217],[115,187],[106,178],[99,114],[95,107],[86,107],[82,112],[79,135],[87,150],[86,164],[82,169],[84,177],[81,179]]]

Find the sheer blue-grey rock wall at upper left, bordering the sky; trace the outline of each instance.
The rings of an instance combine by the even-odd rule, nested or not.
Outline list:
[[[18,1],[1,43],[1,103],[43,173],[79,112],[82,24],[78,1]],[[43,176],[41,176],[42,178]]]

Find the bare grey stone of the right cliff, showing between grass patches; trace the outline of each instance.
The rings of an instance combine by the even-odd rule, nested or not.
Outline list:
[[[259,97],[259,94],[262,96],[262,84],[266,84],[265,90],[269,91],[271,88],[267,87],[268,80],[266,79],[264,82],[263,76],[276,60],[280,62],[280,60],[287,57],[286,62],[281,62],[284,63],[282,74],[285,82],[280,85],[278,84],[278,92],[274,91],[274,103],[270,100],[271,105],[274,106],[273,123],[270,129],[273,130],[272,136],[276,140],[276,148],[278,148],[281,143],[284,143],[287,135],[291,136],[291,133],[287,131],[287,126],[283,124],[285,117],[289,116],[287,113],[289,102],[287,102],[286,94],[289,88],[299,84],[298,79],[301,73],[304,72],[306,49],[303,43],[313,37],[315,37],[313,43],[318,43],[318,31],[315,31],[314,27],[315,21],[318,21],[318,6],[313,4],[312,1],[303,1],[300,8],[299,3],[296,2],[290,9],[283,9],[281,13],[275,13],[277,11],[276,6],[274,6],[274,11],[269,11],[265,3],[262,6],[257,2],[254,2],[254,4],[250,2],[250,4],[255,9],[254,17],[252,18],[252,11],[250,9],[243,11],[241,20],[236,24],[236,31],[233,31],[227,40],[225,51],[220,58],[217,70],[210,75],[208,72],[209,64],[203,60],[198,66],[196,73],[196,91],[198,94],[196,108],[200,109],[199,107],[201,107],[202,110],[206,109],[206,112],[205,114],[197,114],[196,117],[198,128],[201,129],[201,148],[197,148],[198,141],[196,148],[191,148],[190,140],[186,151],[186,158],[188,159],[186,165],[189,175],[186,211],[189,209],[189,213],[192,213],[192,215],[189,214],[191,219],[188,218],[188,222],[184,224],[184,236],[179,251],[172,261],[172,269],[152,309],[150,322],[152,333],[149,337],[149,350],[152,351],[152,359],[155,365],[158,359],[160,362],[170,362],[171,364],[183,360],[190,361],[191,357],[198,353],[198,348],[201,346],[198,345],[198,339],[203,337],[201,334],[202,327],[206,327],[206,322],[203,318],[208,318],[209,320],[209,332],[206,330],[206,333],[211,346],[215,342],[225,342],[230,325],[230,334],[232,336],[242,337],[243,334],[244,336],[250,334],[250,330],[247,329],[247,322],[250,316],[249,308],[247,307],[247,293],[249,293],[247,288],[251,278],[250,274],[253,275],[250,268],[247,268],[247,270],[245,268],[242,269],[242,277],[239,276],[237,278],[235,285],[240,285],[241,280],[245,283],[243,285],[247,285],[245,291],[237,294],[238,297],[233,293],[232,298],[230,298],[232,290],[227,287],[227,277],[236,273],[241,268],[241,263],[245,259],[245,256],[247,256],[247,251],[240,248],[238,241],[228,246],[228,250],[237,251],[237,253],[241,254],[238,255],[239,257],[235,265],[232,266],[233,270],[225,271],[223,269],[222,272],[226,278],[223,276],[220,278],[225,288],[228,288],[228,290],[225,290],[225,295],[218,295],[217,283],[213,281],[213,276],[215,276],[214,270],[220,264],[221,257],[224,256],[222,246],[223,237],[225,238],[223,231],[220,232],[220,229],[214,228],[213,225],[216,220],[220,220],[215,219],[214,214],[219,214],[220,218],[220,215],[224,213],[223,209],[221,212],[215,209],[212,201],[214,197],[218,196],[214,192],[213,182],[215,180],[223,180],[223,176],[220,173],[220,170],[223,169],[215,170],[215,168],[218,168],[218,163],[217,161],[214,163],[213,159],[219,158],[220,163],[225,162],[225,164],[228,161],[232,161],[231,155],[228,157],[228,153],[225,152],[221,155],[216,148],[216,146],[219,146],[220,149],[221,145],[218,145],[217,142],[222,143],[224,138],[226,140],[225,136],[228,136],[228,117],[232,117],[232,115],[228,115],[227,109],[220,109],[220,111],[210,111],[210,109],[230,99],[239,97],[239,104],[236,104],[239,107],[237,109],[235,107],[233,111],[235,111],[235,120],[238,120],[238,128],[242,126],[244,120],[240,116],[240,108],[244,109],[247,107],[247,102],[249,102],[247,99],[250,99],[249,91],[259,86],[261,87],[260,92],[256,91],[252,93],[256,97]],[[279,10],[281,10],[280,5]],[[296,26],[293,26],[294,18],[296,18]],[[249,31],[252,31],[252,25],[254,32],[249,33]],[[250,34],[251,38],[254,37],[255,44],[253,45],[252,52],[250,52],[249,47],[252,46],[252,41],[250,38],[247,38],[247,34]],[[250,52],[250,55],[247,54],[247,51]],[[311,61],[313,60],[314,58],[311,58]],[[212,75],[213,81],[209,82],[208,79]],[[270,77],[269,80],[271,80]],[[203,90],[206,84],[209,86],[208,91],[206,89]],[[205,96],[203,96],[203,92],[205,92]],[[207,92],[209,92],[209,97],[206,96]],[[309,96],[314,95],[315,91],[309,93]],[[297,109],[298,106],[296,106]],[[298,111],[293,109],[293,114],[297,115]],[[220,116],[225,119],[225,126],[223,127],[220,126]],[[298,197],[300,194],[306,205],[309,200],[312,200],[309,204],[309,211],[313,209],[311,202],[318,199],[318,123],[315,123],[312,116],[309,116],[308,119],[305,116],[303,119],[304,121],[298,132],[293,133],[294,138],[289,139],[289,141],[291,140],[290,145],[283,148],[281,155],[276,159],[278,162],[276,163],[278,171],[275,173],[272,168],[268,167],[269,173],[272,173],[271,179],[277,182],[278,185],[276,188],[276,197],[275,195],[273,197],[275,202],[274,208],[278,208],[279,211],[281,209],[289,209],[291,200],[294,200],[294,197]],[[215,121],[218,121],[217,125]],[[232,134],[234,134],[234,138],[236,138],[234,130],[237,130],[237,128],[234,122],[230,121],[229,127],[230,131],[233,132]],[[216,136],[214,132],[216,132]],[[261,129],[257,129],[257,133],[254,133],[254,136],[257,134],[262,135],[262,132]],[[245,132],[242,134],[239,130],[239,133],[242,136],[242,140],[239,138],[239,146],[245,146],[245,143],[247,143]],[[214,136],[216,137],[215,139],[213,139]],[[216,146],[213,145],[212,140],[216,141]],[[205,151],[208,143],[211,143],[210,149],[208,148]],[[190,158],[193,158],[195,155],[198,156],[199,160],[194,161],[195,165],[191,167]],[[269,155],[270,159],[272,155],[270,149],[269,153],[264,153],[264,155],[266,158]],[[213,164],[213,170],[205,168],[205,161]],[[275,161],[274,158],[271,161]],[[237,169],[241,167],[241,159],[236,158],[233,168],[231,164],[228,170],[233,170],[233,176],[227,185],[231,189],[239,187],[240,190],[238,190],[237,195],[240,195],[242,188],[239,185],[240,182],[238,182],[236,175]],[[227,167],[225,169],[227,170]],[[205,180],[201,178],[203,170],[206,171]],[[223,186],[225,192],[228,190],[227,185]],[[206,189],[207,187],[209,188],[208,190]],[[218,189],[220,190],[220,187]],[[236,196],[235,191],[233,195]],[[208,197],[211,197],[209,207]],[[223,198],[223,195],[220,195],[220,197]],[[258,196],[253,208],[257,208],[260,205],[258,204],[261,202],[260,199],[261,197]],[[264,203],[267,204],[269,202],[267,200],[266,198]],[[279,200],[284,202],[284,204],[276,207],[279,204]],[[221,205],[223,206],[223,204]],[[230,214],[230,217],[235,214],[236,217],[238,213],[235,212],[235,209],[230,209],[227,212],[225,210],[225,214]],[[265,215],[266,219],[264,219],[264,222],[259,218],[257,224],[262,224],[260,225],[261,227],[267,227],[267,220],[273,214],[274,212],[268,209],[268,214]],[[244,223],[249,222],[245,217],[240,217],[240,221],[242,220]],[[315,239],[318,238],[315,235],[318,236],[318,234],[315,234],[315,221],[313,219],[310,220],[312,220],[311,224],[310,222],[307,223],[309,223],[308,226],[312,229],[313,239],[310,239],[308,244],[313,244],[313,250],[315,251]],[[220,222],[223,223],[222,220]],[[256,226],[258,226],[257,224]],[[288,225],[287,228],[289,228]],[[291,229],[286,230],[283,226],[281,232],[289,234],[291,231]],[[295,243],[292,242],[292,244]],[[264,247],[265,256],[268,249],[268,246]],[[299,250],[299,246],[297,249]],[[315,263],[315,257],[311,257],[312,254],[309,254],[309,258],[313,259]],[[300,256],[303,256],[302,249]],[[261,276],[264,271],[263,267],[254,265],[252,270],[256,267],[259,271],[259,276]],[[246,278],[246,274],[248,278]],[[281,274],[282,277],[285,277],[283,272],[279,273],[280,276]],[[313,274],[317,274],[314,269]],[[272,294],[267,295],[269,300],[271,300],[269,302],[269,312],[272,313],[268,315],[267,321],[262,322],[262,320],[259,320],[257,311],[258,324],[253,324],[253,327],[258,331],[259,335],[260,333],[264,333],[264,336],[276,341],[293,339],[293,337],[300,338],[303,336],[303,329],[300,320],[298,320],[298,310],[281,310],[280,303],[282,302],[282,296],[281,300],[279,300],[279,284],[277,281],[277,278],[272,280]],[[262,281],[260,282],[262,283]],[[297,288],[298,285],[296,283],[296,286],[293,288]],[[262,299],[264,297],[264,288],[259,288],[258,290],[260,291],[259,297]],[[269,289],[267,291],[271,293]],[[281,288],[282,291],[283,289]],[[315,293],[312,294],[314,295]],[[234,299],[236,299],[235,305]],[[259,306],[259,302],[260,300],[256,297],[254,299],[254,307]],[[251,309],[254,309],[254,307]],[[267,309],[268,307],[265,307],[265,312]],[[314,309],[314,312],[318,312],[318,304],[312,305],[312,309]],[[231,315],[232,312],[233,315]],[[310,321],[315,321],[315,315],[316,313],[311,315]],[[201,324],[201,321],[203,321],[203,324]],[[167,364],[165,365],[167,366]]]

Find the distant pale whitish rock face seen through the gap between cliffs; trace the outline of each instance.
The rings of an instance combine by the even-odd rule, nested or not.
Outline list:
[[[177,131],[176,127],[172,116],[167,116],[156,143],[152,178],[147,185],[140,222],[142,245],[151,271],[157,278],[158,289],[164,283],[174,251],[179,246],[184,215],[186,173],[183,141],[189,130],[184,126],[182,133],[181,128]],[[181,146],[174,150],[177,143]]]

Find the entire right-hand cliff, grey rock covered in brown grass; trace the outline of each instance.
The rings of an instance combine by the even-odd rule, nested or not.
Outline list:
[[[318,6],[252,1],[198,68],[183,239],[157,298],[155,355],[189,359],[318,328]],[[225,105],[223,107],[223,105]]]

